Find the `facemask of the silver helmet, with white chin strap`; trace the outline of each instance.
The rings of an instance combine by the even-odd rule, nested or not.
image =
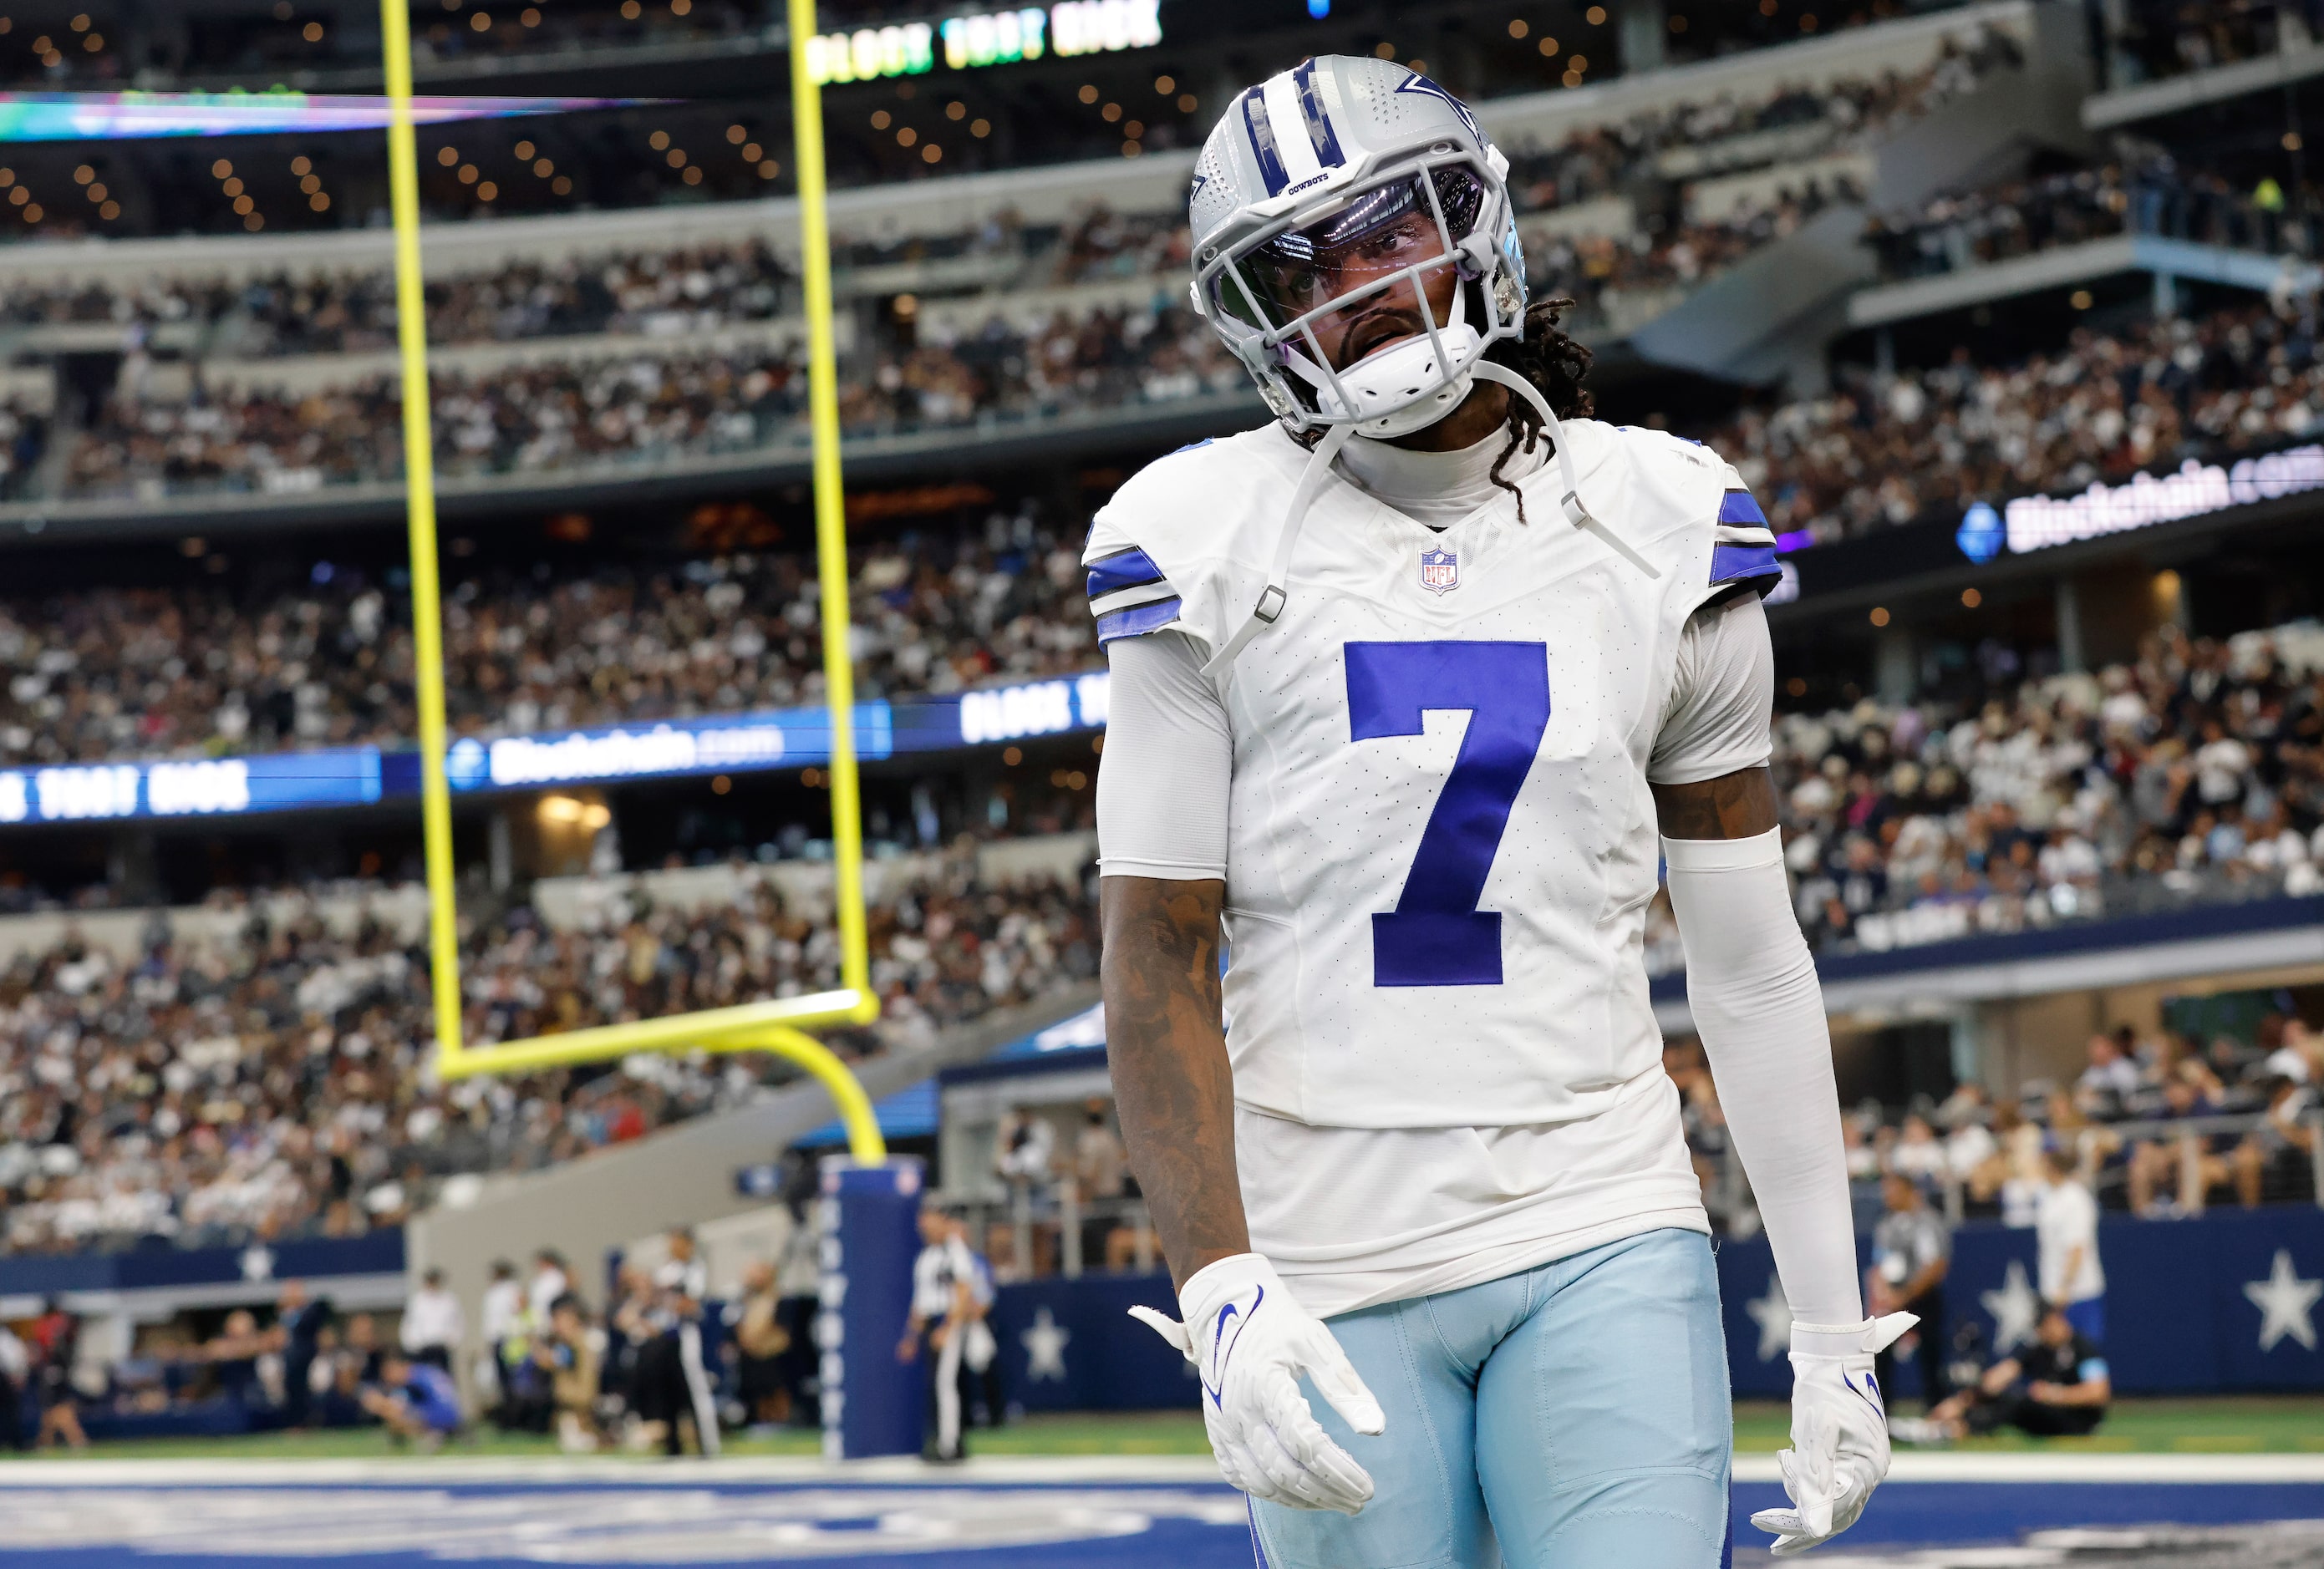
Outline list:
[[[1202,253],[1195,298],[1278,418],[1420,430],[1469,395],[1492,342],[1522,335],[1499,163],[1439,144]]]

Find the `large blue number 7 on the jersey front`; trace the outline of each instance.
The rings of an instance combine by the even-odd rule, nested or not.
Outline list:
[[[1420,735],[1422,709],[1469,709],[1469,735],[1397,909],[1371,918],[1371,983],[1499,986],[1501,916],[1476,902],[1550,725],[1548,646],[1348,644],[1353,739]]]

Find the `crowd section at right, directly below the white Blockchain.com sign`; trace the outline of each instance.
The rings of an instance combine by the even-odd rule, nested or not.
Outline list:
[[[1778,714],[1776,786],[1817,948],[1903,948],[2196,900],[2324,893],[2324,628],[2178,628],[2136,665],[1966,711]],[[1683,965],[1657,902],[1648,967]]]

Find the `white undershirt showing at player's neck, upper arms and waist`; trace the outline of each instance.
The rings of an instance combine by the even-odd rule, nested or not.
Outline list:
[[[1408,458],[1473,463],[1480,449],[1490,470],[1499,451],[1367,446],[1367,458],[1397,451],[1387,460],[1397,470]],[[1162,630],[1113,639],[1106,653],[1099,872],[1225,879],[1234,737],[1218,690],[1202,679],[1202,646]],[[1773,688],[1755,595],[1697,614],[1648,776],[1697,783],[1764,765]],[[1318,1316],[1494,1281],[1657,1227],[1710,1230],[1678,1090],[1659,1065],[1606,1111],[1571,1123],[1311,1127],[1239,1106],[1234,1146],[1250,1246]]]

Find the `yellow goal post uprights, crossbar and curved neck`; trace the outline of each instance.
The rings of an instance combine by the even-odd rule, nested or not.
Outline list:
[[[867,1025],[878,1018],[865,930],[862,793],[855,772],[855,669],[848,658],[848,542],[839,479],[839,374],[832,351],[832,249],[823,188],[823,98],[806,67],[816,2],[790,5],[790,105],[799,170],[799,253],[806,281],[806,393],[813,430],[816,569],[823,583],[823,679],[830,702],[830,783],[834,911],[839,920],[839,990],[746,1002],[625,1025],[541,1034],[530,1041],[469,1046],[460,1039],[460,920],[451,853],[451,786],[444,776],[444,604],[437,576],[435,463],[428,409],[428,307],[421,286],[418,149],[411,130],[409,0],[381,0],[388,79],[388,186],[395,214],[395,330],[404,393],[404,493],[411,535],[411,642],[421,744],[421,828],[428,862],[428,958],[435,993],[437,1074],[525,1074],[576,1062],[604,1062],[639,1051],[765,1051],[790,1058],[830,1090],[862,1162],[888,1158],[878,1118],[862,1083],[823,1041],[816,1025]]]

